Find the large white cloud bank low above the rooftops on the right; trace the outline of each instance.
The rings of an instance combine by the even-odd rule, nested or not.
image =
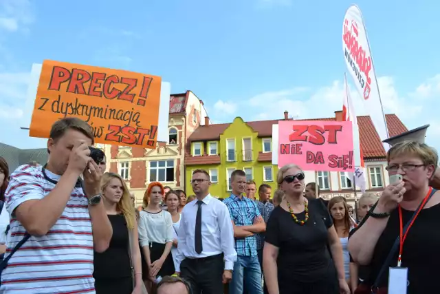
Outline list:
[[[408,129],[430,124],[426,142],[440,151],[440,119],[437,119],[440,108],[440,101],[437,99],[440,94],[440,74],[421,82],[414,91],[408,93],[399,92],[391,76],[377,78],[377,82],[384,112],[396,114]],[[355,87],[349,87],[349,91],[356,115],[367,115],[362,98]],[[243,99],[243,103],[233,107],[245,109],[243,114],[225,112],[225,103],[217,101],[214,108],[222,111],[214,112],[215,115],[212,117],[222,123],[232,121],[235,115],[241,115],[248,121],[281,119],[283,112],[287,110],[289,116],[298,119],[329,118],[335,116],[335,111],[342,110],[343,97],[343,81],[333,81],[330,85],[316,90],[309,87],[293,87]]]

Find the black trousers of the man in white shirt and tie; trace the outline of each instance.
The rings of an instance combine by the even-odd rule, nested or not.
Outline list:
[[[180,276],[187,280],[192,294],[223,294],[223,254],[208,258],[185,258],[180,264]]]

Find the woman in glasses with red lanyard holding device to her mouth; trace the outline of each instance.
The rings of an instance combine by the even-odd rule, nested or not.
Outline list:
[[[440,192],[430,187],[438,158],[417,142],[388,150],[391,184],[349,238],[351,257],[370,270],[355,293],[371,293],[372,286],[374,293],[387,293],[396,283],[406,288],[399,293],[438,293]],[[395,273],[404,276],[395,281]]]

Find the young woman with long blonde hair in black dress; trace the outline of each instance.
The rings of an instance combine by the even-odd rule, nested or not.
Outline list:
[[[94,253],[96,294],[142,294],[144,285],[137,221],[129,190],[122,178],[113,173],[102,176],[101,189],[113,235],[107,251]]]

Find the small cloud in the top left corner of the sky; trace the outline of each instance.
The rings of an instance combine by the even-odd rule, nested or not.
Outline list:
[[[29,0],[0,1],[0,30],[17,32],[27,30],[27,25],[34,21],[34,11]]]

